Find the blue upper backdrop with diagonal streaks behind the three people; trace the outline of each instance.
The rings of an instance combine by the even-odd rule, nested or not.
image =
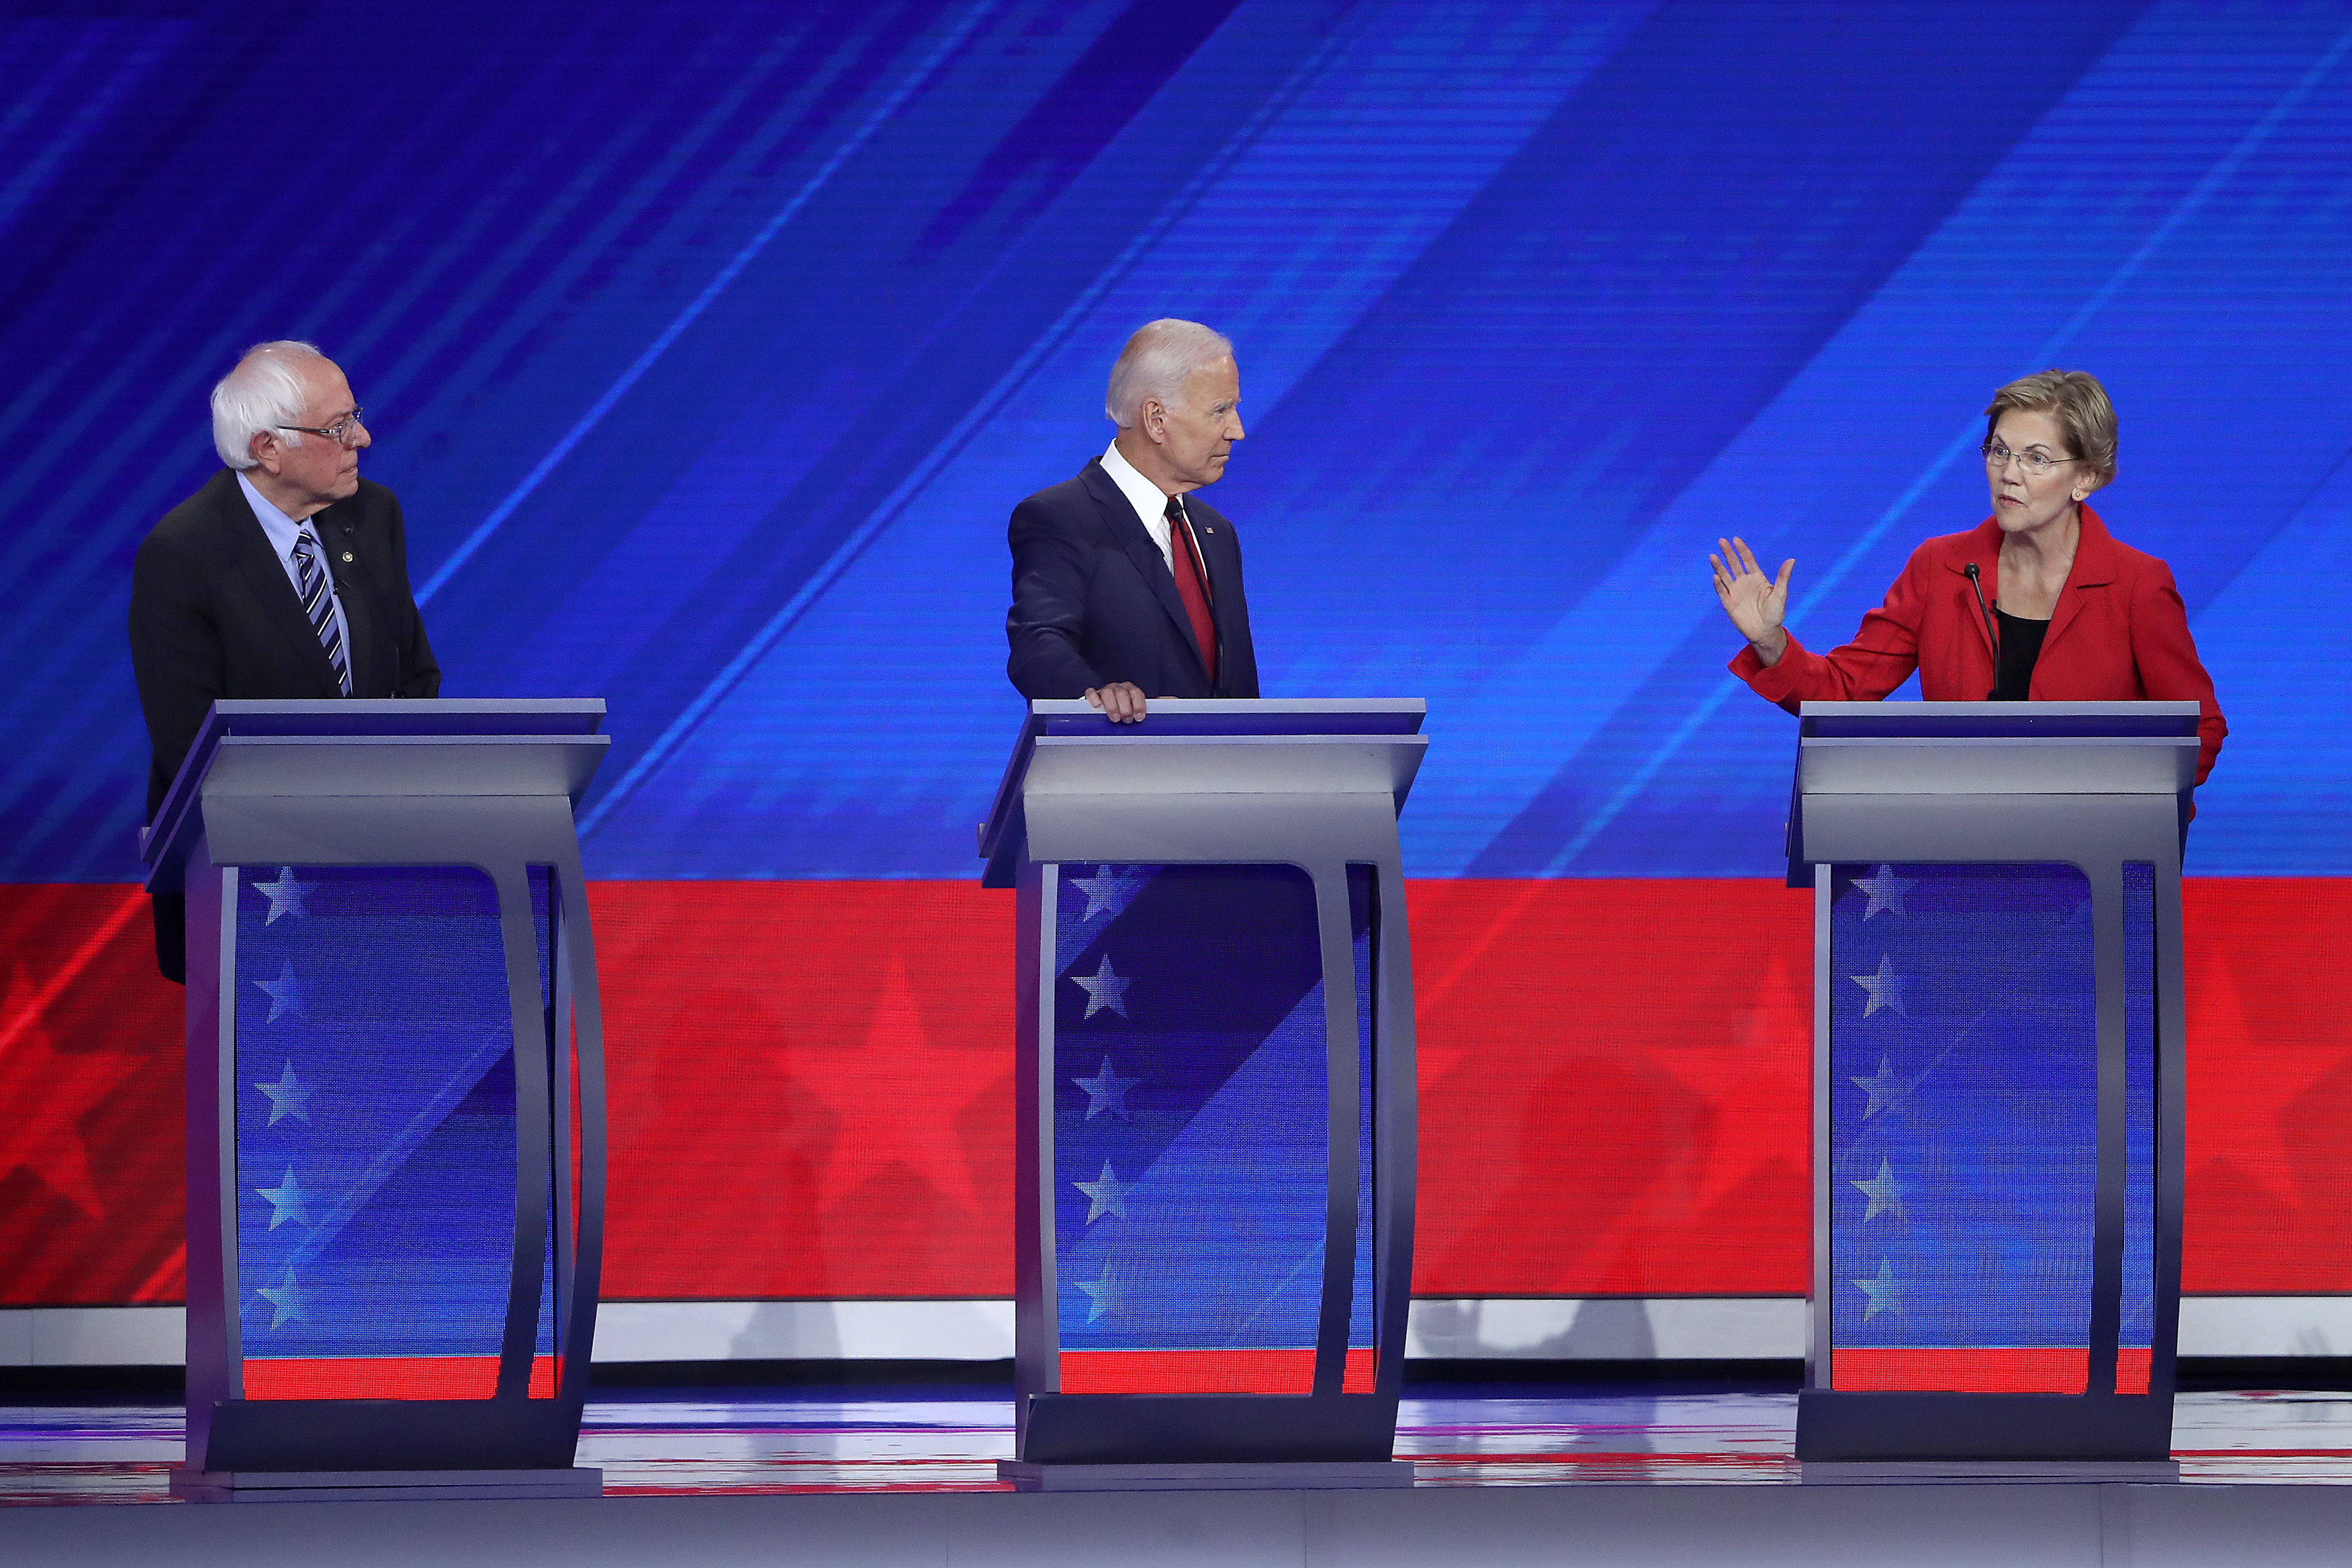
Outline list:
[[[0,879],[129,882],[129,552],[339,357],[452,696],[607,696],[597,877],[967,877],[1004,517],[1138,322],[1240,346],[1265,686],[1430,701],[1421,877],[1773,875],[1705,550],[1842,639],[2098,371],[2230,748],[2352,870],[2352,7],[122,5],[0,21]],[[296,108],[299,106],[299,108]]]

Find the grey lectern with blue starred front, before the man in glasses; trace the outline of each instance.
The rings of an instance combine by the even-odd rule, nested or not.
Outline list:
[[[604,1208],[602,701],[214,703],[188,900],[191,1500],[548,1497]]]

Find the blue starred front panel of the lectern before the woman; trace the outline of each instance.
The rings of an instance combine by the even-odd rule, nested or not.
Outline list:
[[[2091,884],[2072,865],[1835,877],[1832,1387],[2082,1392]]]

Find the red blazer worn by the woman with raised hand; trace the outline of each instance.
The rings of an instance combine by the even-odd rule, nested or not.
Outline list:
[[[1766,670],[1755,649],[1740,649],[1731,672],[1790,712],[1797,703],[1875,703],[1912,670],[1919,670],[1919,696],[1931,703],[1980,703],[1992,691],[1994,651],[1964,576],[1969,562],[1983,574],[1990,604],[2002,592],[2002,527],[1994,520],[1912,550],[1886,602],[1863,616],[1863,630],[1846,646],[1823,656],[1790,637],[1773,668]],[[2187,607],[2171,569],[2122,543],[2089,505],[2082,508],[2074,569],[2051,611],[2027,698],[2197,698],[2204,710],[2197,719],[2197,783],[2213,771],[2220,738],[2230,733],[2213,701],[2213,677],[2197,663]]]

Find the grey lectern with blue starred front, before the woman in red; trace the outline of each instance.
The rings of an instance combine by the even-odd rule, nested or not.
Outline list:
[[[1797,1458],[2171,1458],[2197,703],[1804,703]]]

